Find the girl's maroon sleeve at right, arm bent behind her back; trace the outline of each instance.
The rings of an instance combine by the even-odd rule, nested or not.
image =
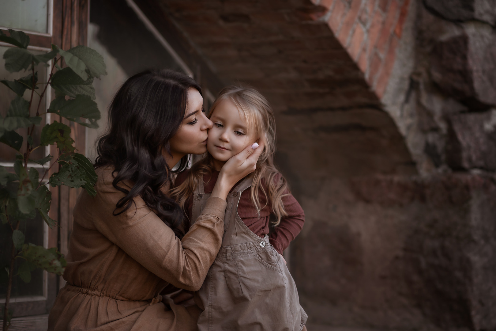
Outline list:
[[[279,254],[282,254],[288,248],[289,243],[302,231],[303,224],[305,223],[305,212],[300,206],[300,203],[298,203],[289,190],[286,190],[284,195],[282,201],[288,215],[281,218],[281,222],[274,228],[274,231],[269,237],[270,243]]]

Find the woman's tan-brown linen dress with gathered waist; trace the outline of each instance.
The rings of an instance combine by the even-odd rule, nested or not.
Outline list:
[[[198,307],[164,304],[159,293],[168,283],[200,288],[219,252],[226,201],[210,198],[179,240],[142,199],[114,216],[124,194],[112,186],[112,168],[97,174],[96,197],[82,192],[74,207],[67,284],[48,330],[196,330]]]

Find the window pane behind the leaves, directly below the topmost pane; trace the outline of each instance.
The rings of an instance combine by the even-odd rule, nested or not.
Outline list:
[[[0,46],[0,59],[3,59],[3,53],[8,49],[8,47],[3,47]],[[44,52],[39,52],[39,51],[33,51],[30,50],[30,52],[34,54],[42,54]],[[0,66],[0,79],[6,79],[6,80],[14,80],[18,79],[20,77],[27,76],[30,72],[28,71],[21,71],[21,72],[13,72],[10,73],[7,70],[5,70],[5,67],[3,66],[4,62],[1,61],[1,66]],[[38,65],[35,68],[36,71],[38,71],[38,82],[44,82],[46,81],[47,77],[47,67],[44,66],[43,64]],[[39,85],[39,89],[36,91],[41,94],[43,89],[45,88],[45,85]],[[24,99],[28,100],[30,99],[31,96],[31,90],[26,89],[26,92],[24,92]],[[5,117],[7,114],[8,107],[10,106],[10,102],[14,100],[15,98],[15,93],[10,90],[7,86],[0,84],[0,115],[2,117]],[[35,93],[33,96],[33,105],[31,106],[31,116],[34,116],[36,113],[36,107],[38,106],[38,101],[40,98],[38,95]],[[45,97],[43,98],[41,104],[40,104],[40,113],[45,112]],[[35,127],[35,130],[33,132],[33,142],[35,145],[40,143],[40,133],[41,129],[43,128],[43,123],[45,121],[45,117],[42,116],[42,123],[40,126]],[[17,133],[22,135],[24,140],[26,140],[26,135],[27,135],[27,129],[18,129],[16,130]],[[21,150],[25,150],[26,146],[26,141],[24,141],[22,145]],[[15,153],[16,150],[13,148],[10,148],[6,146],[5,144],[0,143],[0,162],[13,162],[15,161]],[[30,158],[32,160],[39,160],[45,156],[45,148],[40,147],[38,149],[35,149],[33,153],[31,154]]]

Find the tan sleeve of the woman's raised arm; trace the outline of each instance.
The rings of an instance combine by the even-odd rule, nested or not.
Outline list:
[[[93,222],[97,230],[146,269],[172,285],[197,291],[222,243],[226,201],[211,197],[202,214],[180,240],[145,202],[114,216],[124,194],[111,183],[97,183]],[[98,215],[99,217],[95,217]]]

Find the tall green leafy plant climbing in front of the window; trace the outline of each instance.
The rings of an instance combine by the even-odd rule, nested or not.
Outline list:
[[[39,139],[33,139],[35,127],[40,125],[42,115],[53,113],[80,125],[97,128],[100,111],[94,101],[95,89],[92,83],[94,78],[107,74],[103,57],[89,47],[76,46],[63,51],[52,45],[52,51],[35,55],[27,49],[29,36],[10,29],[8,32],[10,35],[0,30],[0,41],[13,45],[3,55],[5,69],[9,72],[26,70],[29,74],[13,81],[0,80],[16,94],[6,116],[0,116],[0,142],[16,150],[13,171],[0,166],[0,219],[2,224],[8,224],[11,231],[11,251],[1,253],[9,264],[0,265],[0,281],[4,281],[7,287],[3,307],[4,331],[11,317],[8,305],[13,277],[19,276],[24,282],[29,282],[31,272],[36,268],[62,275],[66,265],[57,248],[46,249],[26,243],[24,233],[19,230],[21,221],[33,219],[37,214],[51,228],[58,225],[49,216],[52,193],[46,185],[45,176],[58,164],[59,171],[50,175],[48,184],[52,187],[82,187],[91,196],[96,195],[93,187],[97,180],[95,169],[89,159],[75,152],[70,128],[54,121],[42,128]],[[66,65],[64,68],[60,66],[62,59]],[[35,67],[40,64],[48,66],[50,61],[53,61],[53,66],[48,80],[39,82]],[[41,102],[49,85],[55,90],[55,98],[49,109],[40,113]],[[26,90],[30,91],[29,100],[23,98]],[[35,93],[40,97],[37,105],[33,102]],[[21,128],[27,128],[25,136],[16,132]],[[33,141],[40,143],[35,144]],[[57,157],[47,155],[40,160],[31,159],[34,150],[48,145],[57,146]],[[39,178],[36,168],[29,166],[33,163],[43,167],[42,178]],[[16,260],[20,263],[14,270]]]

